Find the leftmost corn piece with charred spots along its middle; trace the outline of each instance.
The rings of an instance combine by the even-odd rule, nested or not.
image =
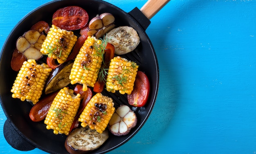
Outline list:
[[[52,68],[45,63],[36,64],[36,60],[28,59],[23,62],[20,71],[13,83],[11,96],[21,101],[31,101],[36,104],[42,95],[46,79],[52,72]]]

